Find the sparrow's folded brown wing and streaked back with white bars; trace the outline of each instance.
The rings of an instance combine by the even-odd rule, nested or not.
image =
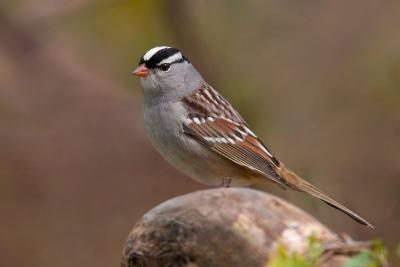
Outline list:
[[[183,98],[190,118],[184,133],[235,164],[285,186],[279,161],[248,128],[239,113],[208,84]]]

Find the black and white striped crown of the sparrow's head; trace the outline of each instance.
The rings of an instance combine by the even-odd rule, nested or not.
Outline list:
[[[147,51],[139,61],[139,65],[145,64],[147,68],[155,68],[162,64],[188,61],[181,51],[174,47],[157,46]]]

